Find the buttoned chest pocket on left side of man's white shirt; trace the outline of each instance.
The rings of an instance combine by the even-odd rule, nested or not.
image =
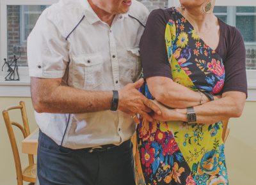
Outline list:
[[[99,53],[73,56],[74,86],[85,90],[99,90],[102,86],[103,60]]]

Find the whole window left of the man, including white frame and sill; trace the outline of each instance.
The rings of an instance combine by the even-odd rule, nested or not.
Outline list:
[[[56,2],[58,0],[0,1],[0,96],[30,96],[26,40],[42,11]],[[4,58],[12,61],[14,55],[19,57],[20,80],[6,81],[4,77],[9,72]],[[15,62],[12,63],[14,66]]]

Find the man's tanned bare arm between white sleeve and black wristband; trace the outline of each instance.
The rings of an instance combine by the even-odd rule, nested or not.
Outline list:
[[[61,85],[59,79],[31,78],[31,94],[36,112],[86,113],[109,110],[112,91],[84,91]]]

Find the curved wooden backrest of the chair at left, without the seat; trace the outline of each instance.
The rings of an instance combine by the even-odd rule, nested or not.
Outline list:
[[[20,110],[21,117],[22,117],[22,124],[11,121],[10,115],[9,115],[10,110]],[[17,174],[17,182],[20,185],[20,184],[23,184],[22,168],[20,163],[19,150],[17,147],[17,142],[16,142],[16,138],[15,138],[12,126],[17,126],[20,129],[20,131],[22,131],[24,138],[28,137],[28,135],[30,134],[25,103],[23,101],[20,101],[20,104],[17,106],[6,108],[5,110],[3,110],[3,117],[4,117],[4,122],[6,124],[8,136],[12,145],[13,158],[15,161],[15,168],[16,168],[16,174]],[[29,159],[29,165],[33,165],[34,164],[33,155],[29,154],[28,159]]]

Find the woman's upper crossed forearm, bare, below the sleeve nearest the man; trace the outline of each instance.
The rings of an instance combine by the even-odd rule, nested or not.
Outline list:
[[[192,91],[188,87],[173,82],[167,77],[147,78],[148,89],[157,101],[167,107],[187,108],[207,103],[209,99],[198,92]],[[202,96],[202,98],[201,98]],[[217,96],[215,97],[217,99]]]

